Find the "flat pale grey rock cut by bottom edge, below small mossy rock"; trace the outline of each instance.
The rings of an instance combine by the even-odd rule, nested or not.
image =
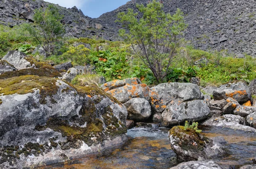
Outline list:
[[[214,161],[189,161],[180,163],[171,169],[222,169]]]

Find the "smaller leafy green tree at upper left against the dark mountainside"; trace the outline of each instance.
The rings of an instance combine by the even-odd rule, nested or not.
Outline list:
[[[38,45],[44,48],[47,56],[54,52],[56,43],[62,39],[65,32],[64,26],[61,24],[62,16],[58,12],[58,8],[49,5],[45,11],[42,8],[36,9],[34,14],[35,25],[26,25],[29,32]]]

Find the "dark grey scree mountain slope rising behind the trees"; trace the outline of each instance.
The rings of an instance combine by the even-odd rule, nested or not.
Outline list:
[[[136,3],[146,4],[148,0],[131,0],[96,19],[84,16],[76,7],[59,8],[67,35],[119,40],[121,25],[115,23],[116,15],[128,8],[136,10]],[[33,10],[47,4],[42,0],[1,0],[0,21],[10,26],[32,22]],[[196,48],[227,50],[238,57],[256,56],[255,0],[163,0],[163,5],[166,12],[174,13],[177,8],[184,12],[188,23],[185,37]]]

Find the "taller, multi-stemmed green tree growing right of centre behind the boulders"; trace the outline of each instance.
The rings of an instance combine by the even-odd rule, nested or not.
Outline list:
[[[117,22],[123,26],[119,36],[131,44],[135,56],[151,69],[157,82],[162,82],[182,42],[186,28],[183,12],[178,8],[173,15],[165,13],[163,4],[156,0],[136,7],[139,13],[129,8],[126,14],[118,14]]]

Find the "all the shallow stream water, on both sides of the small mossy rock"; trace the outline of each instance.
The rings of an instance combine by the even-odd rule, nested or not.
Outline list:
[[[169,144],[167,128],[133,128],[122,146],[108,149],[66,163],[44,166],[40,169],[169,169],[177,165],[177,157]],[[207,137],[223,136],[229,155],[216,159],[224,169],[238,169],[252,164],[256,156],[256,135],[221,128],[203,128]]]

